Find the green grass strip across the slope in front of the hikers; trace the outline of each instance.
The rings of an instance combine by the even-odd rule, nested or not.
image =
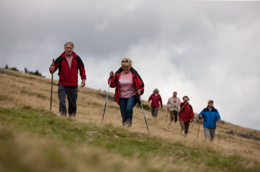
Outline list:
[[[0,126],[2,126],[0,128],[0,171],[1,169],[5,171],[41,171],[30,165],[14,163],[14,161],[20,160],[20,154],[16,156],[17,152],[26,152],[26,149],[29,149],[18,149],[17,143],[13,142],[16,135],[24,133],[31,138],[51,141],[51,145],[54,146],[39,150],[41,157],[37,158],[38,161],[46,162],[49,167],[61,171],[64,166],[72,171],[76,167],[64,157],[59,149],[60,145],[67,150],[88,145],[90,149],[105,149],[107,152],[119,154],[126,159],[138,158],[146,165],[149,157],[161,156],[169,159],[174,157],[171,163],[203,163],[212,171],[257,171],[260,169],[259,164],[248,169],[240,165],[240,162],[250,163],[249,159],[237,155],[223,156],[207,143],[190,148],[180,142],[168,143],[160,137],[154,137],[148,133],[129,132],[124,128],[92,122],[78,123],[73,119],[57,117],[50,111],[34,109],[30,106],[12,109],[0,108],[0,114]],[[88,136],[86,131],[97,131],[98,135]],[[143,168],[144,171],[165,170],[164,167],[155,169],[144,166]],[[116,166],[115,169],[120,171],[123,166]]]

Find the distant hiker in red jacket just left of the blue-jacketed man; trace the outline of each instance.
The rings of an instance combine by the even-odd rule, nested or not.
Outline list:
[[[189,98],[188,96],[183,97],[184,102],[180,103],[180,109],[181,111],[179,112],[179,124],[181,128],[181,135],[187,136],[190,122],[193,122],[194,118],[194,113],[192,106],[189,105]],[[184,106],[184,107],[183,107]]]

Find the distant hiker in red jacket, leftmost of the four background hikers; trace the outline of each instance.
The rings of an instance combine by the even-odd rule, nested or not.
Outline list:
[[[158,114],[158,110],[160,107],[159,102],[161,103],[161,109],[163,109],[163,102],[162,102],[162,97],[159,94],[159,90],[157,88],[155,88],[153,90],[153,94],[150,95],[148,102],[151,102],[151,113],[152,113],[152,117],[156,118],[157,114]]]

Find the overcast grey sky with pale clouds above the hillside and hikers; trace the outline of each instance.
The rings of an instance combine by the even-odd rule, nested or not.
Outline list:
[[[129,57],[143,100],[158,88],[166,105],[177,91],[200,113],[213,99],[222,120],[260,130],[259,1],[1,0],[0,23],[0,67],[51,78],[52,59],[72,41],[87,87],[108,90]]]

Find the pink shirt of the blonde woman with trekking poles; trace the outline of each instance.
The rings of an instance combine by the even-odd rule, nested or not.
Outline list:
[[[122,98],[129,98],[133,95],[136,95],[136,89],[134,85],[134,80],[132,77],[132,72],[129,74],[120,75],[119,78],[120,94]]]

